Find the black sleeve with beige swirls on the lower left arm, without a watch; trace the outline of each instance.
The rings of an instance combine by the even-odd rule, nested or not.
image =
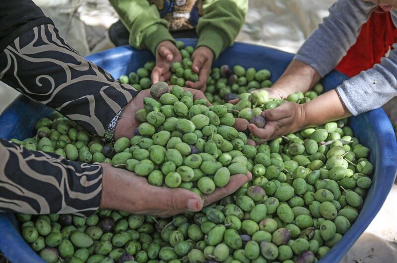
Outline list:
[[[0,139],[0,211],[90,215],[98,209],[102,166]]]

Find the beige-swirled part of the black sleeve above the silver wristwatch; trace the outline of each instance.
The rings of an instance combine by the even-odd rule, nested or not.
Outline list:
[[[0,80],[99,136],[138,93],[80,56],[52,24],[33,27],[3,49]]]

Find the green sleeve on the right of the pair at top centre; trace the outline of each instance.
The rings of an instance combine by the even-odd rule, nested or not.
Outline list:
[[[212,50],[215,59],[231,46],[244,24],[248,0],[205,0],[199,18],[197,47]]]

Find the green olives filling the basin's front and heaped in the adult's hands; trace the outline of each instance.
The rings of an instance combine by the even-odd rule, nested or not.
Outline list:
[[[316,89],[287,100],[307,102],[322,92]],[[58,113],[39,120],[36,136],[12,141],[70,160],[108,162],[152,185],[199,195],[236,173],[253,178],[200,212],[172,218],[110,210],[87,218],[17,214],[22,237],[48,263],[317,262],[359,215],[372,183],[370,152],[347,119],[247,145],[247,135],[231,127],[235,116],[252,120],[256,108],[282,103],[261,92],[240,94],[234,106],[209,106],[159,82],[136,113],[135,136],[114,145]]]

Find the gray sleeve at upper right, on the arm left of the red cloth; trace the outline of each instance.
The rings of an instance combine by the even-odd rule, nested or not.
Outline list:
[[[363,0],[337,0],[295,56],[324,77],[356,42],[361,26],[368,20],[375,4]]]

